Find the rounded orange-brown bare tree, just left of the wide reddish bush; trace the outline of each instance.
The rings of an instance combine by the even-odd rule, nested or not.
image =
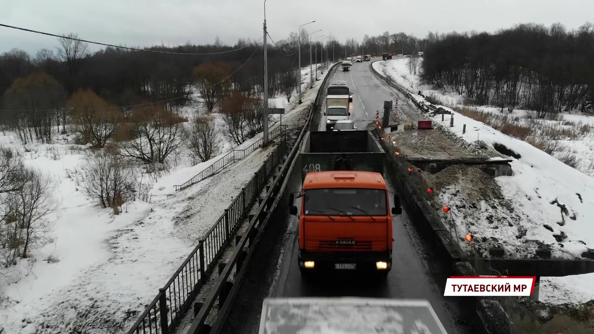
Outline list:
[[[121,111],[109,108],[92,90],[78,90],[68,99],[68,106],[75,109],[72,115],[72,131],[81,144],[102,148],[120,126]],[[76,111],[78,109],[78,111]]]

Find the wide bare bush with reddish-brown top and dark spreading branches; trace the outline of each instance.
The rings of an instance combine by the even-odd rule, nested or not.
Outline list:
[[[163,163],[182,144],[181,122],[187,121],[162,105],[132,109],[116,138],[119,155],[144,163]]]

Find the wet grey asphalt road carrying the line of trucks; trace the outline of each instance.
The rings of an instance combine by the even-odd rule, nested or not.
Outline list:
[[[349,83],[353,92],[352,118],[360,129],[374,121],[375,110],[383,108],[384,100],[396,95],[403,102],[402,96],[384,86],[369,70],[369,62],[353,64],[350,73],[339,70],[332,80]],[[319,124],[320,114],[316,116],[315,125]],[[393,193],[391,180],[386,181]],[[433,247],[431,235],[425,235],[422,228],[411,222],[406,207],[393,220],[393,264],[387,279],[340,274],[302,279],[297,265],[298,219],[288,213],[288,193],[299,191],[300,187],[299,168],[295,168],[223,332],[257,333],[262,301],[267,296],[422,298],[431,303],[448,333],[484,332],[472,300],[443,296],[445,279],[451,275],[450,260]]]

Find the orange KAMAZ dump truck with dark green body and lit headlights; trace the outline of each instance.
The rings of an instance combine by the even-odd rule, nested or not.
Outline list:
[[[387,275],[392,266],[392,215],[383,177],[385,153],[369,131],[312,131],[299,154],[302,198],[298,263],[302,275],[318,270],[364,270]]]

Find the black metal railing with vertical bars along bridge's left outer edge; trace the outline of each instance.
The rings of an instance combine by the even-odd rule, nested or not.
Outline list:
[[[273,174],[275,166],[281,162],[286,152],[286,137],[282,137],[266,162],[254,173],[247,185],[225,209],[225,213],[208,230],[206,237],[198,242],[172,278],[159,289],[159,294],[147,305],[128,334],[168,334],[177,326],[206,281],[207,273],[213,270],[223,251],[230,244],[239,228],[239,223],[248,215],[252,203],[258,198],[266,185],[266,180]]]

